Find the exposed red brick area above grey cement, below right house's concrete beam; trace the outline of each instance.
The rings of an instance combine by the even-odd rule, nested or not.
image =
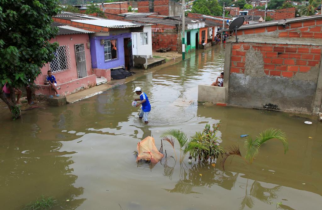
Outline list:
[[[254,48],[263,55],[264,72],[270,76],[292,77],[320,66],[322,46],[233,43],[230,73],[244,73],[246,52]]]

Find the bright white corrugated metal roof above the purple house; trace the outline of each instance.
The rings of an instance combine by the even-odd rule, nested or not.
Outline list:
[[[117,20],[107,20],[107,19],[99,19],[99,20],[73,20],[73,22],[80,22],[90,25],[96,25],[106,28],[133,28],[140,27],[141,25],[125,22],[125,21],[117,21]]]

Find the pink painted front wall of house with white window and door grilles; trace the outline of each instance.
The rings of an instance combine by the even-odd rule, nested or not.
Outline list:
[[[85,46],[86,69],[87,69],[87,75],[90,76],[91,75],[91,56],[90,56],[90,49],[87,48],[87,42],[90,41],[88,34],[59,35],[56,38],[50,40],[51,43],[56,42],[56,41],[59,43],[59,46],[69,45],[70,58],[71,58],[71,63],[70,63],[71,69],[70,70],[59,72],[59,73],[53,73],[53,75],[56,77],[57,85],[60,86],[60,84],[66,84],[66,83],[69,83],[73,80],[79,79],[77,76],[77,68],[76,68],[76,55],[75,55],[75,45],[76,44],[84,44],[84,46]],[[43,66],[43,68],[41,69],[42,74],[40,74],[37,77],[35,84],[41,85],[43,87],[44,79],[45,79],[45,76],[47,75],[48,70],[50,70],[49,63],[47,63],[45,66]],[[88,87],[92,86],[93,85],[92,84],[93,83],[92,77],[90,77],[90,78],[84,77],[82,79],[81,83],[76,82],[76,83],[73,83],[73,85],[62,85],[61,89],[58,90],[58,92],[62,93],[63,95],[68,95],[68,94],[71,94],[72,92],[75,92],[75,90],[84,89],[84,88],[82,88],[82,84],[86,83],[86,81],[84,81],[85,78],[89,79],[86,87],[88,88]],[[96,84],[96,82],[95,82],[95,84]],[[68,88],[66,90],[64,90],[64,87],[65,88],[68,87]],[[73,88],[75,90],[72,90]],[[40,91],[41,89],[42,88],[40,88],[39,91],[36,91],[35,94],[46,94],[46,92]],[[45,89],[48,89],[48,88],[45,88]],[[49,94],[49,91],[47,94]]]

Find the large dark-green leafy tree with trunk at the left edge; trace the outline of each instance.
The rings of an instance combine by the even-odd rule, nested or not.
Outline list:
[[[24,87],[52,61],[57,43],[49,43],[58,32],[51,27],[52,16],[59,12],[56,0],[0,0],[0,86],[10,85],[11,100],[1,92],[0,98],[20,116],[15,104],[14,88]]]

